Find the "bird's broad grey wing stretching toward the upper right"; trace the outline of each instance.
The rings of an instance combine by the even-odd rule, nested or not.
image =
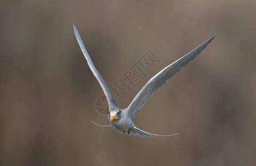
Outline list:
[[[131,117],[131,120],[136,116],[137,111],[140,110],[142,106],[146,103],[147,100],[162,86],[168,82],[171,77],[177,74],[186,64],[188,64],[191,60],[198,55],[201,50],[203,50],[213,38],[207,40],[203,44],[199,45],[190,53],[184,55],[182,58],[176,60],[173,64],[170,64],[160,72],[158,72],[154,77],[152,77],[144,87],[139,91],[139,93],[134,97],[134,100],[130,103],[130,105],[125,108],[127,110],[128,115]]]

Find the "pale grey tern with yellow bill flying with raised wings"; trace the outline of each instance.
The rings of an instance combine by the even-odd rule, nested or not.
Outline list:
[[[82,42],[82,39],[80,37],[80,34],[78,33],[75,24],[73,24],[73,30],[75,32],[76,39],[78,44],[80,45],[82,53],[87,60],[87,64],[90,67],[93,75],[99,82],[102,90],[104,91],[107,102],[109,103],[109,112],[107,117],[109,119],[110,125],[99,125],[91,121],[92,123],[94,123],[97,126],[112,127],[117,132],[121,132],[129,136],[133,134],[134,136],[151,138],[156,136],[175,136],[179,134],[176,133],[160,135],[145,132],[142,129],[137,128],[132,121],[134,120],[136,113],[140,110],[140,108],[145,105],[146,101],[149,100],[149,98],[152,95],[154,95],[157,90],[164,86],[166,82],[168,82],[171,79],[171,77],[177,74],[181,69],[184,68],[184,66],[186,66],[198,54],[200,54],[200,52],[215,38],[215,36],[213,38],[210,38],[209,40],[206,40],[206,42],[199,45],[194,50],[190,51],[188,54],[184,55],[180,59],[176,60],[174,63],[166,66],[163,70],[158,72],[145,84],[144,87],[142,87],[139,93],[131,101],[130,105],[127,108],[121,109],[116,106],[116,102],[109,90],[109,87],[107,86],[106,82],[104,81],[100,73],[97,71],[95,65],[93,65],[92,60],[85,48],[85,45]]]

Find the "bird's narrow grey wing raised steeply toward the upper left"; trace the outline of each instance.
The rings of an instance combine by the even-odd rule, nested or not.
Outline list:
[[[83,55],[85,56],[87,63],[93,73],[93,75],[96,77],[96,79],[98,80],[98,82],[100,83],[100,86],[102,88],[102,90],[104,91],[104,94],[107,98],[107,102],[109,102],[109,107],[115,107],[116,106],[116,102],[109,90],[109,87],[107,87],[106,82],[104,81],[104,79],[102,78],[102,76],[100,75],[99,71],[97,71],[97,69],[95,68],[95,66],[92,63],[92,60],[89,56],[89,54],[87,53],[87,50],[85,49],[85,45],[83,45],[82,39],[78,33],[78,30],[76,29],[76,26],[73,24],[73,29],[76,35],[76,39],[78,44],[80,45],[80,48],[83,52]]]

